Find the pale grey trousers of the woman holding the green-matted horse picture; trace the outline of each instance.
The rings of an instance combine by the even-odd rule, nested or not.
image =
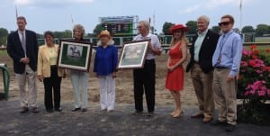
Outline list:
[[[89,74],[82,71],[70,70],[70,79],[75,95],[75,108],[88,107],[88,78]],[[82,95],[82,104],[81,103]]]

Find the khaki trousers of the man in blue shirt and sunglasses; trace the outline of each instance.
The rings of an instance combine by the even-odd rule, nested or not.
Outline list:
[[[215,68],[213,74],[213,90],[216,107],[219,110],[220,122],[237,124],[236,78],[227,81],[229,68]]]

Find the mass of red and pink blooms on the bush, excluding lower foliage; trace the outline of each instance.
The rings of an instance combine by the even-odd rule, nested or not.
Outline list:
[[[251,45],[243,50],[238,78],[238,97],[258,96],[262,100],[270,98],[270,50],[264,53]]]

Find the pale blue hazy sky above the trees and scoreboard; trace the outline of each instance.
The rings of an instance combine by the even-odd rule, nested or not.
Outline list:
[[[99,17],[138,15],[151,18],[157,33],[168,23],[196,21],[201,15],[211,19],[210,27],[220,22],[224,14],[235,18],[235,28],[265,23],[270,25],[269,0],[0,0],[0,28],[14,31],[16,7],[18,15],[27,19],[27,29],[45,31],[72,30],[74,24],[85,26],[92,33]]]

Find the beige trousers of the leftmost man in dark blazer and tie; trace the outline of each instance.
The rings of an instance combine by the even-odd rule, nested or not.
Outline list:
[[[19,85],[20,101],[22,107],[38,107],[37,104],[37,86],[36,72],[29,65],[25,65],[23,74],[15,74]],[[28,92],[26,91],[26,82],[28,82]]]

